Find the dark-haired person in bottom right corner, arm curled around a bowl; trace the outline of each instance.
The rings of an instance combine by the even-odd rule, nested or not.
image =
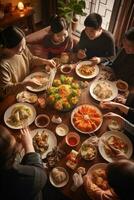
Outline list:
[[[134,162],[122,156],[122,159],[107,164],[107,183],[110,190],[103,190],[94,184],[88,175],[84,177],[84,186],[92,200],[131,200],[134,196]]]

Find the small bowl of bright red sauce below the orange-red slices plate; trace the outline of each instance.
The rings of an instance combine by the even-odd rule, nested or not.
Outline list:
[[[65,137],[66,144],[70,147],[75,147],[80,142],[80,136],[76,132],[69,132]]]

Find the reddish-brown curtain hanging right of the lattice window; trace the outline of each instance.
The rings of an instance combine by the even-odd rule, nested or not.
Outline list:
[[[122,38],[124,33],[134,26],[134,0],[123,0],[119,8],[117,22],[114,27],[114,37],[116,46],[122,46]]]

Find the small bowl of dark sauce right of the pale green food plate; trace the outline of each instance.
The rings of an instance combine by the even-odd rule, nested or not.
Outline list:
[[[40,114],[35,118],[35,125],[39,128],[47,127],[50,123],[50,118],[48,115]]]

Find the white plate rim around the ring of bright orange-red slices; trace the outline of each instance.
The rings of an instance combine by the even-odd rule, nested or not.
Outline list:
[[[95,111],[99,114],[100,119],[101,119],[101,122],[100,122],[100,124],[97,126],[96,129],[93,129],[93,130],[90,130],[90,131],[83,131],[83,130],[80,130],[80,129],[75,125],[75,123],[74,123],[74,121],[73,121],[73,120],[74,120],[74,115],[75,115],[75,113],[77,113],[82,107],[87,107],[87,108],[95,109]],[[87,113],[85,113],[84,115],[87,116]],[[86,116],[85,116],[85,117],[86,117]],[[91,116],[91,114],[90,114],[90,119],[91,119],[91,118],[92,118],[92,116]],[[74,127],[77,131],[79,131],[79,132],[81,132],[81,133],[84,133],[84,134],[89,134],[89,133],[93,133],[93,132],[97,131],[97,130],[101,127],[102,122],[103,122],[103,118],[102,118],[102,113],[101,113],[101,111],[100,111],[97,107],[95,107],[95,106],[93,106],[93,105],[83,104],[83,105],[77,106],[77,107],[72,111],[72,114],[71,114],[71,123],[72,123],[73,127]]]

